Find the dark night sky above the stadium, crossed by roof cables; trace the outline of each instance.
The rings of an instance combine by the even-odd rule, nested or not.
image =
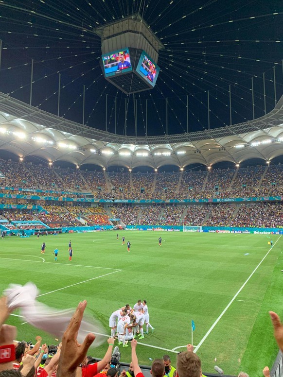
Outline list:
[[[134,135],[133,97],[106,81],[99,60],[101,40],[93,29],[135,12],[150,25],[165,49],[159,51],[159,78],[154,89],[136,94],[137,134],[208,128],[255,118],[274,107],[283,94],[283,4],[281,0],[3,0],[0,1],[2,55],[0,91],[29,103],[31,62],[34,59],[32,104],[57,114],[61,74],[60,116],[85,124]],[[107,122],[106,122],[107,94]]]

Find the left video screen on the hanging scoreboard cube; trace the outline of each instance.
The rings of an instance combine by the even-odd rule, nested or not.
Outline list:
[[[102,63],[105,77],[120,75],[133,70],[128,48],[102,55]]]

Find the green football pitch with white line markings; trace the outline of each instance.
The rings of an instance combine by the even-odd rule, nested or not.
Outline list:
[[[262,376],[263,367],[272,366],[278,348],[268,311],[283,314],[283,237],[273,236],[270,249],[266,235],[119,231],[116,240],[116,233],[6,237],[0,240],[0,288],[32,281],[40,290],[38,300],[58,309],[86,299],[88,314],[100,320],[105,334],[113,311],[147,300],[155,331],[139,342],[142,364],[169,354],[175,365],[177,352],[191,343],[194,320],[193,343],[203,371],[212,372],[217,364],[225,374],[245,370]],[[122,245],[123,235],[132,244],[130,253]],[[46,252],[41,255],[43,240]],[[18,340],[34,341],[40,333],[44,342],[56,343],[23,322],[9,318],[18,327]],[[106,346],[89,354],[103,357]],[[130,346],[121,354],[121,360],[130,361]]]

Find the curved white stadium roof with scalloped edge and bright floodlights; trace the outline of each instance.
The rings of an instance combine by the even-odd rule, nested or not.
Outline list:
[[[283,96],[256,120],[200,132],[156,137],[111,134],[65,120],[0,93],[0,149],[19,157],[101,167],[163,165],[183,168],[283,154]]]

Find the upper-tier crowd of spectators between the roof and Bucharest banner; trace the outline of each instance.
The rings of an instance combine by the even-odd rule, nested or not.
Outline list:
[[[105,199],[114,197],[168,200],[282,195],[283,165],[270,165],[266,172],[265,168],[265,166],[239,168],[233,179],[235,169],[213,169],[213,167],[209,172],[192,170],[183,173],[155,174],[132,173],[123,168],[119,172],[78,171],[0,159],[0,171],[5,176],[2,180],[3,186],[30,188],[31,191],[25,191],[26,194],[33,194],[33,189],[70,191],[68,194],[49,193],[48,195],[72,198],[82,196],[80,191],[91,192],[95,198]],[[108,177],[108,185],[106,177]],[[141,192],[141,188],[144,189],[144,193]],[[2,192],[15,193],[11,190],[2,190]],[[79,194],[76,194],[77,192]]]

